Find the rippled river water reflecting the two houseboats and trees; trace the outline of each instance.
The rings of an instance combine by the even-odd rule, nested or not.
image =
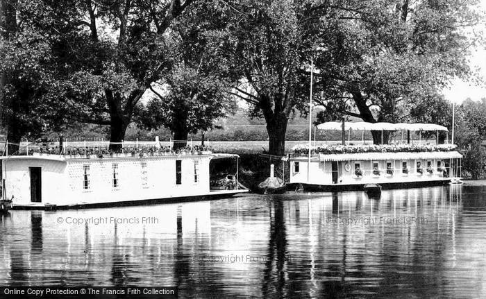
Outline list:
[[[177,286],[205,298],[485,298],[486,188],[246,194],[12,211],[0,285]]]

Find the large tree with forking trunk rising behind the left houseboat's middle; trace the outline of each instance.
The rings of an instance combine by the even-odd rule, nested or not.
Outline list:
[[[192,0],[85,0],[76,3],[76,66],[70,82],[76,119],[110,126],[110,149],[121,147],[135,106],[171,65],[170,26]],[[87,20],[85,19],[87,17]]]

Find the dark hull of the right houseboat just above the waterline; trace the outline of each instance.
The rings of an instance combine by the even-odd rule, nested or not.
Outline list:
[[[435,180],[435,181],[420,181],[420,182],[380,182],[382,189],[403,189],[403,188],[416,188],[416,187],[428,187],[428,186],[440,186],[448,185],[451,180]],[[299,184],[287,184],[289,189],[296,189]],[[302,185],[304,191],[362,191],[364,185],[367,184],[356,184],[356,185],[314,185],[314,184],[300,184]]]

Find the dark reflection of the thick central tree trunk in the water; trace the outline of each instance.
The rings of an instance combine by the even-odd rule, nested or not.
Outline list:
[[[264,282],[262,293],[265,298],[284,298],[285,286],[285,259],[287,258],[287,232],[285,231],[285,218],[282,200],[273,200],[274,216],[270,213],[270,237],[265,262]],[[275,264],[275,272],[274,272]]]

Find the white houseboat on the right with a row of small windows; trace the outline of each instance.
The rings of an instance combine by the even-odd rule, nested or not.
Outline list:
[[[462,155],[453,144],[324,145],[311,147],[310,155],[308,148],[297,146],[290,155],[290,183],[319,189],[410,187],[446,184],[461,176]]]

